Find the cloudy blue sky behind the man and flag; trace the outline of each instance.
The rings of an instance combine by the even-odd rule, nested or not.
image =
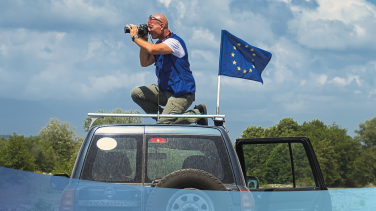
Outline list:
[[[140,110],[155,84],[127,24],[162,13],[186,43],[196,101],[215,114],[221,30],[273,54],[259,82],[221,77],[232,141],[250,125],[319,119],[354,136],[376,116],[375,0],[0,1],[0,135],[37,135],[50,118],[84,136],[87,113]],[[146,123],[153,123],[150,119]],[[209,121],[209,125],[213,122]]]

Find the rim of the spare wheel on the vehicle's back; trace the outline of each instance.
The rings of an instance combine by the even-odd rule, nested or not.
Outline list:
[[[200,190],[180,190],[167,203],[168,211],[213,211],[209,196]]]

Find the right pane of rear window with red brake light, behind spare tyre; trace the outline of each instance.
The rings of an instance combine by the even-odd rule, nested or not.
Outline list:
[[[221,136],[148,135],[147,144],[149,182],[191,168],[207,171],[224,183],[234,183]]]

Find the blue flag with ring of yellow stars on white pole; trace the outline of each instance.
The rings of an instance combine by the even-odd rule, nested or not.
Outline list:
[[[261,73],[271,58],[270,52],[249,45],[230,32],[222,30],[218,75],[263,83]]]

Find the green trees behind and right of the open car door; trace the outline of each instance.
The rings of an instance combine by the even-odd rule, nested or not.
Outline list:
[[[306,136],[328,187],[376,185],[376,117],[361,123],[355,133],[351,137],[335,123],[325,125],[313,120],[299,125],[292,118],[284,118],[268,128],[249,126],[241,138]]]

